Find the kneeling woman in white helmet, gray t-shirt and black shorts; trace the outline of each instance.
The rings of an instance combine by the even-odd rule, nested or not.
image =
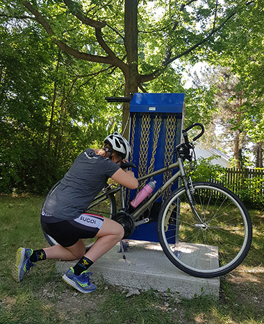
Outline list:
[[[103,148],[88,148],[76,158],[60,184],[48,194],[42,207],[42,228],[58,244],[40,250],[19,248],[14,273],[17,282],[21,282],[35,262],[40,260],[79,259],[63,275],[63,280],[83,293],[96,289],[95,284],[90,282],[88,268],[122,239],[124,229],[111,219],[85,214],[85,210],[104,188],[108,178],[130,189],[138,187],[133,172],[125,172],[118,165],[122,160],[128,160],[130,151],[126,139],[115,132],[106,137]],[[97,241],[85,253],[82,239],[92,237],[97,237]]]

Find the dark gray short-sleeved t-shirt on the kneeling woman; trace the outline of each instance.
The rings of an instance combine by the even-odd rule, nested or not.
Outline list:
[[[58,187],[47,196],[42,221],[48,223],[78,218],[106,185],[119,166],[88,148],[74,161]]]

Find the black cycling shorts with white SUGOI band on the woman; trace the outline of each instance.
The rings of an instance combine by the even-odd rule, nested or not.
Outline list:
[[[46,223],[41,219],[44,232],[65,248],[73,246],[79,239],[95,237],[103,222],[104,217],[93,214],[81,214],[78,219],[57,223]]]

